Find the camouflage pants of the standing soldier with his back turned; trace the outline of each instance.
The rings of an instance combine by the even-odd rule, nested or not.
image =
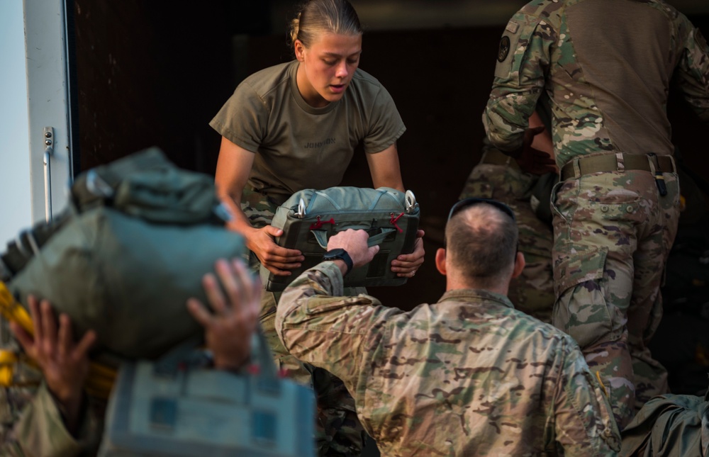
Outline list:
[[[647,349],[662,315],[660,286],[679,218],[679,182],[660,196],[647,171],[605,172],[557,184],[554,326],[581,346],[618,425],[668,390]]]

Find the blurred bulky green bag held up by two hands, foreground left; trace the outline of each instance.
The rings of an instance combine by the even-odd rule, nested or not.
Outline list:
[[[155,358],[201,335],[186,300],[206,301],[204,273],[245,252],[225,229],[211,176],[177,168],[147,149],[86,171],[71,203],[0,256],[16,299],[50,300],[72,319],[74,334],[94,329],[98,349]]]

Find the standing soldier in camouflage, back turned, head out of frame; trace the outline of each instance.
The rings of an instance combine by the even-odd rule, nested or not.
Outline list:
[[[513,16],[484,114],[513,155],[551,107],[561,182],[554,198],[553,322],[599,371],[621,427],[667,390],[647,342],[676,234],[679,185],[666,116],[670,81],[709,121],[709,51],[660,0],[536,0]]]

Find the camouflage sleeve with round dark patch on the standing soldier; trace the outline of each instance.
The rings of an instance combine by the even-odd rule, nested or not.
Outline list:
[[[533,11],[519,11],[500,40],[492,91],[483,125],[495,147],[503,152],[522,147],[528,119],[545,86],[556,33]]]

